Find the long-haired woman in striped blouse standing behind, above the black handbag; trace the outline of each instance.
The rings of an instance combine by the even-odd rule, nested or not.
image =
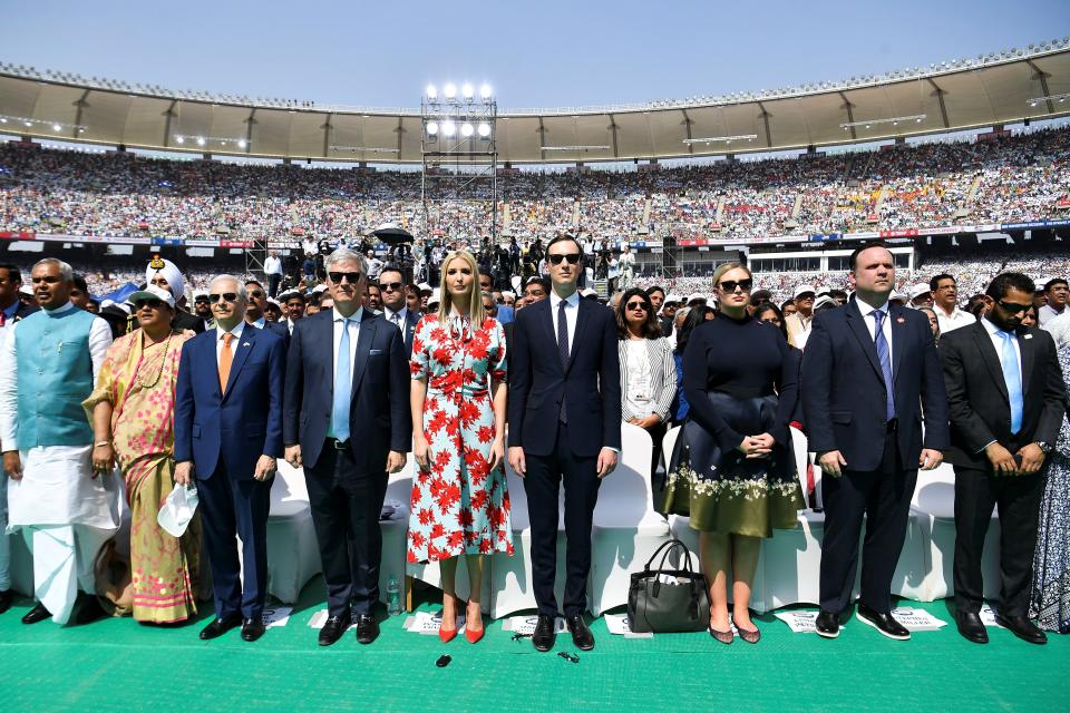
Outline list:
[[[672,348],[661,335],[658,315],[643,290],[633,287],[621,297],[616,330],[621,340],[617,348],[621,419],[650,433],[654,442],[650,463],[653,478],[661,461],[661,439],[671,417],[672,398],[677,393],[677,365]]]

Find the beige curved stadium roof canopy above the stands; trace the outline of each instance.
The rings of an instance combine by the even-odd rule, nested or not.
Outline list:
[[[499,162],[587,163],[820,148],[1066,115],[1070,38],[787,89],[507,110],[495,130]],[[0,64],[0,133],[33,138],[389,164],[419,163],[421,131],[419,109],[171,91]]]

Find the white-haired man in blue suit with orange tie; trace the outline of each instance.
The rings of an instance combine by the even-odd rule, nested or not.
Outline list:
[[[241,624],[242,638],[253,642],[264,633],[270,479],[282,456],[286,354],[282,338],[244,321],[246,294],[239,280],[217,276],[208,300],[216,328],[183,344],[178,363],[175,482],[196,480],[212,567],[215,619],[201,638]],[[241,565],[235,535],[242,538]]]

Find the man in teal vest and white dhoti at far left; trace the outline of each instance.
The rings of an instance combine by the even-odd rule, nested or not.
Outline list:
[[[38,604],[25,624],[66,624],[78,589],[93,594],[93,560],[119,525],[118,480],[90,466],[93,430],[81,402],[111,344],[107,322],[70,303],[70,265],[45,258],[31,273],[42,307],[0,351],[0,443],[9,531],[33,554]]]

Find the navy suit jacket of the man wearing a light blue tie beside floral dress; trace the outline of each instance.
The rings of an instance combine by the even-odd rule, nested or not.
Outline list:
[[[386,471],[391,450],[412,446],[409,361],[401,332],[364,310],[357,336],[349,409],[353,476]],[[299,321],[288,354],[283,441],[301,446],[305,468],[320,459],[334,399],[334,311]]]

